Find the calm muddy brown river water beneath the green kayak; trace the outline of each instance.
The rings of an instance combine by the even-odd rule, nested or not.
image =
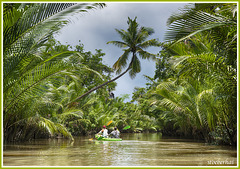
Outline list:
[[[90,137],[5,144],[3,166],[236,166],[237,151],[160,134],[122,134],[123,141]]]

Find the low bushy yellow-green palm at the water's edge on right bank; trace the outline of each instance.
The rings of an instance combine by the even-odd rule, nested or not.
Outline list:
[[[179,127],[185,135],[194,135],[195,130],[209,140],[208,132],[214,129],[217,121],[213,90],[210,86],[206,88],[207,83],[198,83],[195,79],[168,80],[161,82],[153,91],[152,105],[171,111],[175,127]]]

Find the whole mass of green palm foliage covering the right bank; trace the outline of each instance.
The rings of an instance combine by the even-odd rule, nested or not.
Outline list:
[[[236,4],[194,6],[169,18],[166,39],[173,43],[160,53],[155,77],[162,79],[150,88],[150,105],[164,134],[235,145]],[[176,74],[163,76],[165,67]]]

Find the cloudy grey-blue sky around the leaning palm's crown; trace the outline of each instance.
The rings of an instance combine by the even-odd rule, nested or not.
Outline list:
[[[115,29],[128,28],[128,17],[134,19],[137,17],[139,26],[151,27],[155,33],[149,39],[156,38],[160,42],[164,40],[164,33],[167,30],[167,19],[186,3],[176,2],[158,2],[158,3],[106,3],[102,9],[90,10],[85,14],[77,14],[71,19],[71,23],[62,28],[56,36],[56,39],[62,44],[75,46],[79,40],[84,44],[85,51],[95,53],[95,49],[102,49],[106,55],[103,57],[103,63],[112,67],[118,57],[123,54],[121,48],[108,41],[120,40],[121,38]],[[153,54],[159,53],[161,48],[151,47],[147,51]],[[135,87],[146,87],[147,80],[143,75],[153,77],[155,74],[155,62],[151,60],[140,60],[141,72],[134,79],[129,74],[125,74],[118,80],[117,87],[113,91],[115,96],[130,94],[130,101]],[[116,75],[114,74],[114,77]]]

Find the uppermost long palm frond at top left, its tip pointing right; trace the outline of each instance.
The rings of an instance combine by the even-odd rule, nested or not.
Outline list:
[[[98,5],[99,4],[36,3],[29,7],[20,20],[17,20],[13,26],[7,27],[6,31],[4,30],[4,49],[8,49],[10,45],[13,45],[19,39],[23,39],[24,36],[32,34],[31,36],[37,37],[55,25],[61,26],[66,24],[66,22],[69,21],[67,19],[69,14],[81,12],[82,9],[93,9]]]

